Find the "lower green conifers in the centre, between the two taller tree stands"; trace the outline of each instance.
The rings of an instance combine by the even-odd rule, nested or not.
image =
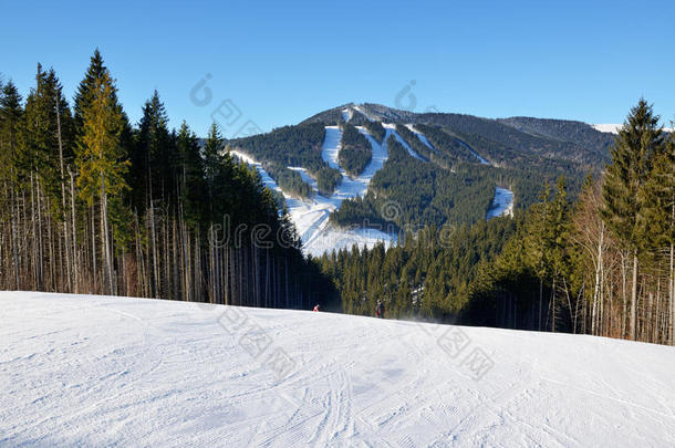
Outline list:
[[[373,315],[383,300],[391,317],[454,322],[468,300],[476,264],[494,260],[515,230],[516,222],[506,218],[472,227],[430,226],[406,233],[386,251],[383,244],[354,247],[316,262],[333,279],[346,313]]]

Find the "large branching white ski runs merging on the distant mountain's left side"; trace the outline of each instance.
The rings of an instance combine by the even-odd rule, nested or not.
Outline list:
[[[333,249],[351,249],[353,244],[372,248],[376,243],[383,242],[386,247],[390,247],[396,241],[397,235],[395,235],[393,229],[367,229],[363,227],[339,229],[329,223],[331,212],[338,210],[343,200],[365,195],[371,179],[375,173],[382,169],[388,157],[386,139],[385,144],[381,145],[367,133],[367,131],[365,131],[365,128],[357,127],[357,129],[364,134],[371,143],[373,159],[359,177],[351,178],[340,167],[338,162],[338,154],[341,148],[340,140],[342,138],[340,127],[325,127],[321,157],[329,166],[339,169],[342,174],[342,180],[330,197],[319,194],[316,180],[312,178],[304,168],[289,167],[289,169],[298,171],[300,176],[302,176],[302,179],[308,183],[314,191],[314,196],[310,199],[300,199],[291,197],[285,192],[283,194],[289,215],[300,235],[302,249],[305,253],[319,257],[325,251],[331,251]],[[386,136],[388,137],[388,135],[390,133],[387,132]],[[258,169],[258,173],[260,173],[266,186],[282,191],[269,174],[264,171],[259,162],[240,152],[232,150],[232,154],[240,157],[249,165],[255,166]]]

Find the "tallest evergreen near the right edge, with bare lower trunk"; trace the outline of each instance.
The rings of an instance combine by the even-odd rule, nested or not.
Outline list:
[[[619,132],[612,148],[612,164],[608,166],[601,210],[608,227],[630,251],[633,262],[631,291],[630,336],[637,334],[637,277],[641,241],[645,232],[645,184],[650,178],[654,157],[664,150],[664,134],[660,116],[642,98]]]

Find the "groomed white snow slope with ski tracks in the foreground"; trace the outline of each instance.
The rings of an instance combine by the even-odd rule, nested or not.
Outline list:
[[[675,348],[0,292],[0,446],[672,447]]]

